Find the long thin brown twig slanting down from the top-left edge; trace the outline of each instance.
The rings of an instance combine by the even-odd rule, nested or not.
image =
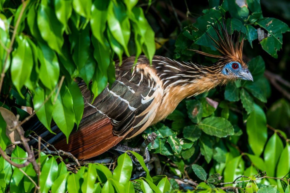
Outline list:
[[[15,29],[14,29],[13,34],[12,34],[10,46],[8,48],[7,55],[5,57],[5,61],[4,61],[3,67],[2,67],[1,80],[0,80],[0,93],[1,93],[2,85],[3,85],[4,76],[5,76],[5,72],[4,71],[5,71],[5,67],[6,67],[6,64],[7,64],[7,60],[8,60],[8,57],[9,57],[10,53],[12,52],[13,44],[14,44],[14,41],[15,41],[16,33],[17,33],[17,29],[18,29],[18,26],[20,24],[20,21],[21,21],[22,15],[24,13],[25,7],[27,5],[27,2],[28,1],[23,1],[22,0],[22,8],[21,8],[19,16],[17,18]]]

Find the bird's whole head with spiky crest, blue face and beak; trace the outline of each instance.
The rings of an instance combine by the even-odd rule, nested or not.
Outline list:
[[[216,32],[217,38],[213,38],[207,32],[205,33],[207,33],[213,46],[221,55],[213,55],[199,50],[194,51],[212,58],[218,58],[212,68],[215,69],[214,72],[223,77],[224,81],[235,79],[253,81],[253,76],[242,59],[244,37],[240,37],[241,32],[235,40],[231,26],[228,29],[224,19],[222,19],[222,22],[216,19],[212,27]]]

